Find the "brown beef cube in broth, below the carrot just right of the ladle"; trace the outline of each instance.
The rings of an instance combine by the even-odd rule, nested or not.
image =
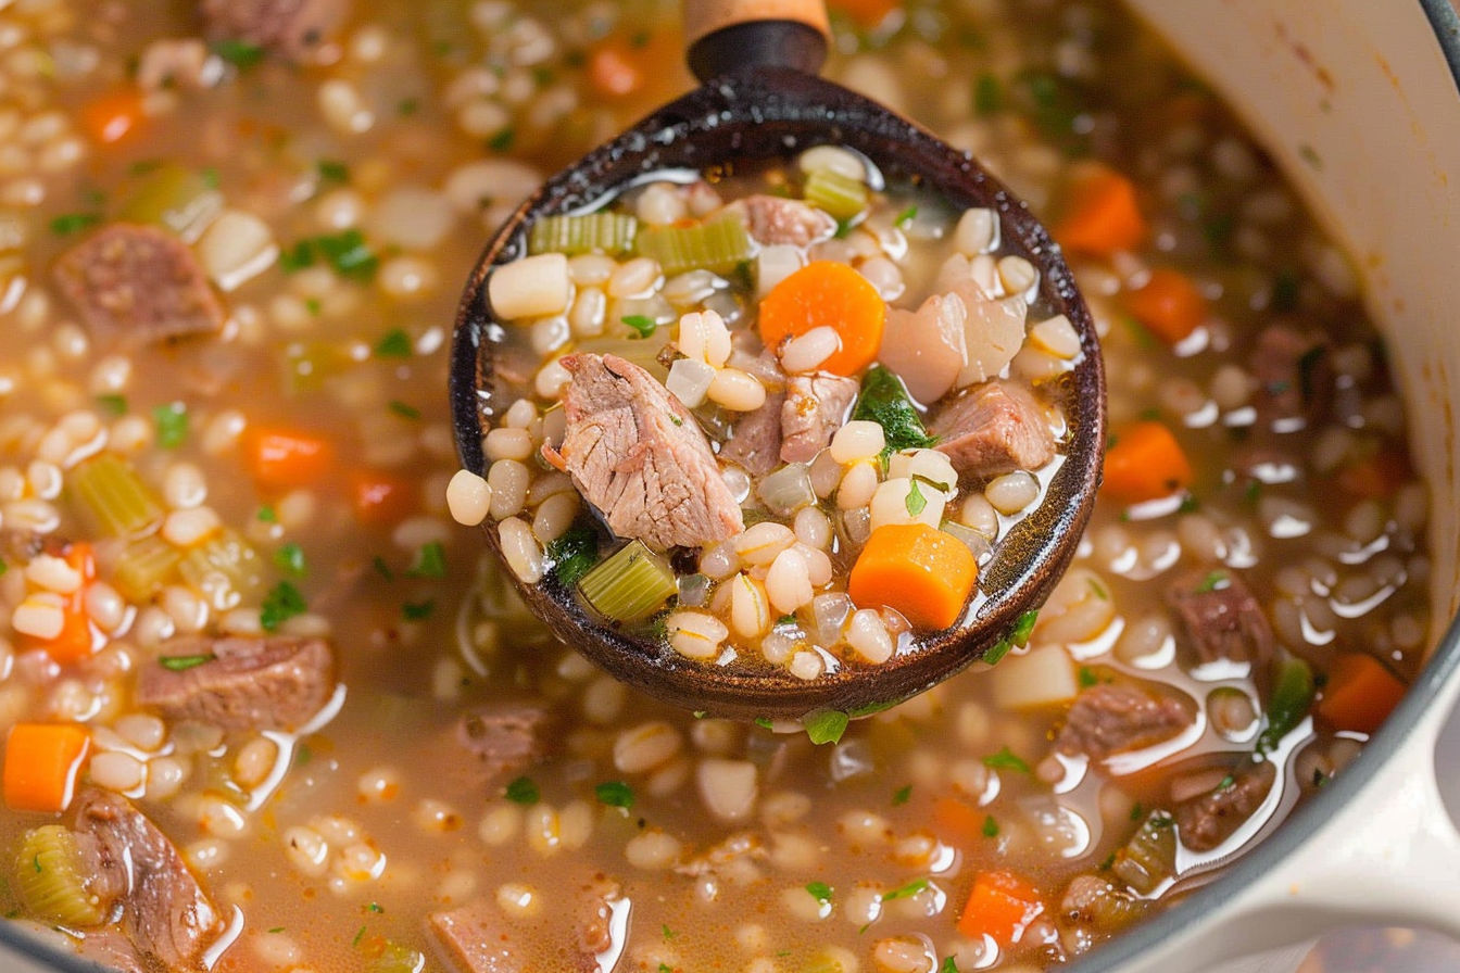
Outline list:
[[[1273,629],[1257,598],[1232,570],[1196,570],[1167,588],[1167,604],[1202,662],[1250,662],[1264,675],[1273,656]]]

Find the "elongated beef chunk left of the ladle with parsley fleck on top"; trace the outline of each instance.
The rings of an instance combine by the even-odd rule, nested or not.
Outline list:
[[[185,668],[164,664],[204,656]],[[223,729],[298,729],[333,691],[334,651],[324,639],[184,636],[137,674],[143,706]]]

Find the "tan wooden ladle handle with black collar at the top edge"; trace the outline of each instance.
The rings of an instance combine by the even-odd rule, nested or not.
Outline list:
[[[689,70],[702,82],[761,66],[815,74],[828,36],[822,0],[685,0]]]

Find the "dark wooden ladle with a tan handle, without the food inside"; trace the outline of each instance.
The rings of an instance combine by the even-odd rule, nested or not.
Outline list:
[[[474,267],[451,352],[457,448],[463,465],[485,476],[483,433],[511,404],[495,382],[495,352],[507,325],[492,315],[486,282],[495,265],[526,255],[527,228],[539,216],[591,207],[657,171],[790,162],[822,143],[854,149],[889,181],[911,179],[955,207],[994,210],[1004,245],[1040,270],[1042,296],[1075,325],[1082,354],[1057,379],[1069,423],[1063,462],[1038,508],[997,541],[961,624],[899,646],[882,665],[845,664],[803,681],[784,670],[695,662],[650,637],[619,632],[550,572],[536,585],[518,582],[527,605],[559,639],[669,703],[736,719],[864,715],[946,680],[1000,645],[1067,567],[1095,502],[1105,446],[1105,378],[1095,325],[1060,249],[1022,201],[967,153],[815,76],[828,38],[821,0],[686,0],[685,19],[689,64],[704,83],[552,177],[498,230]],[[501,554],[491,521],[486,535]]]

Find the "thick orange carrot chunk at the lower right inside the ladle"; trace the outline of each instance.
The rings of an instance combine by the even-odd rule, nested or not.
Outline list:
[[[892,608],[917,629],[946,629],[964,614],[978,578],[968,547],[927,524],[883,524],[857,556],[847,594],[858,608]]]

